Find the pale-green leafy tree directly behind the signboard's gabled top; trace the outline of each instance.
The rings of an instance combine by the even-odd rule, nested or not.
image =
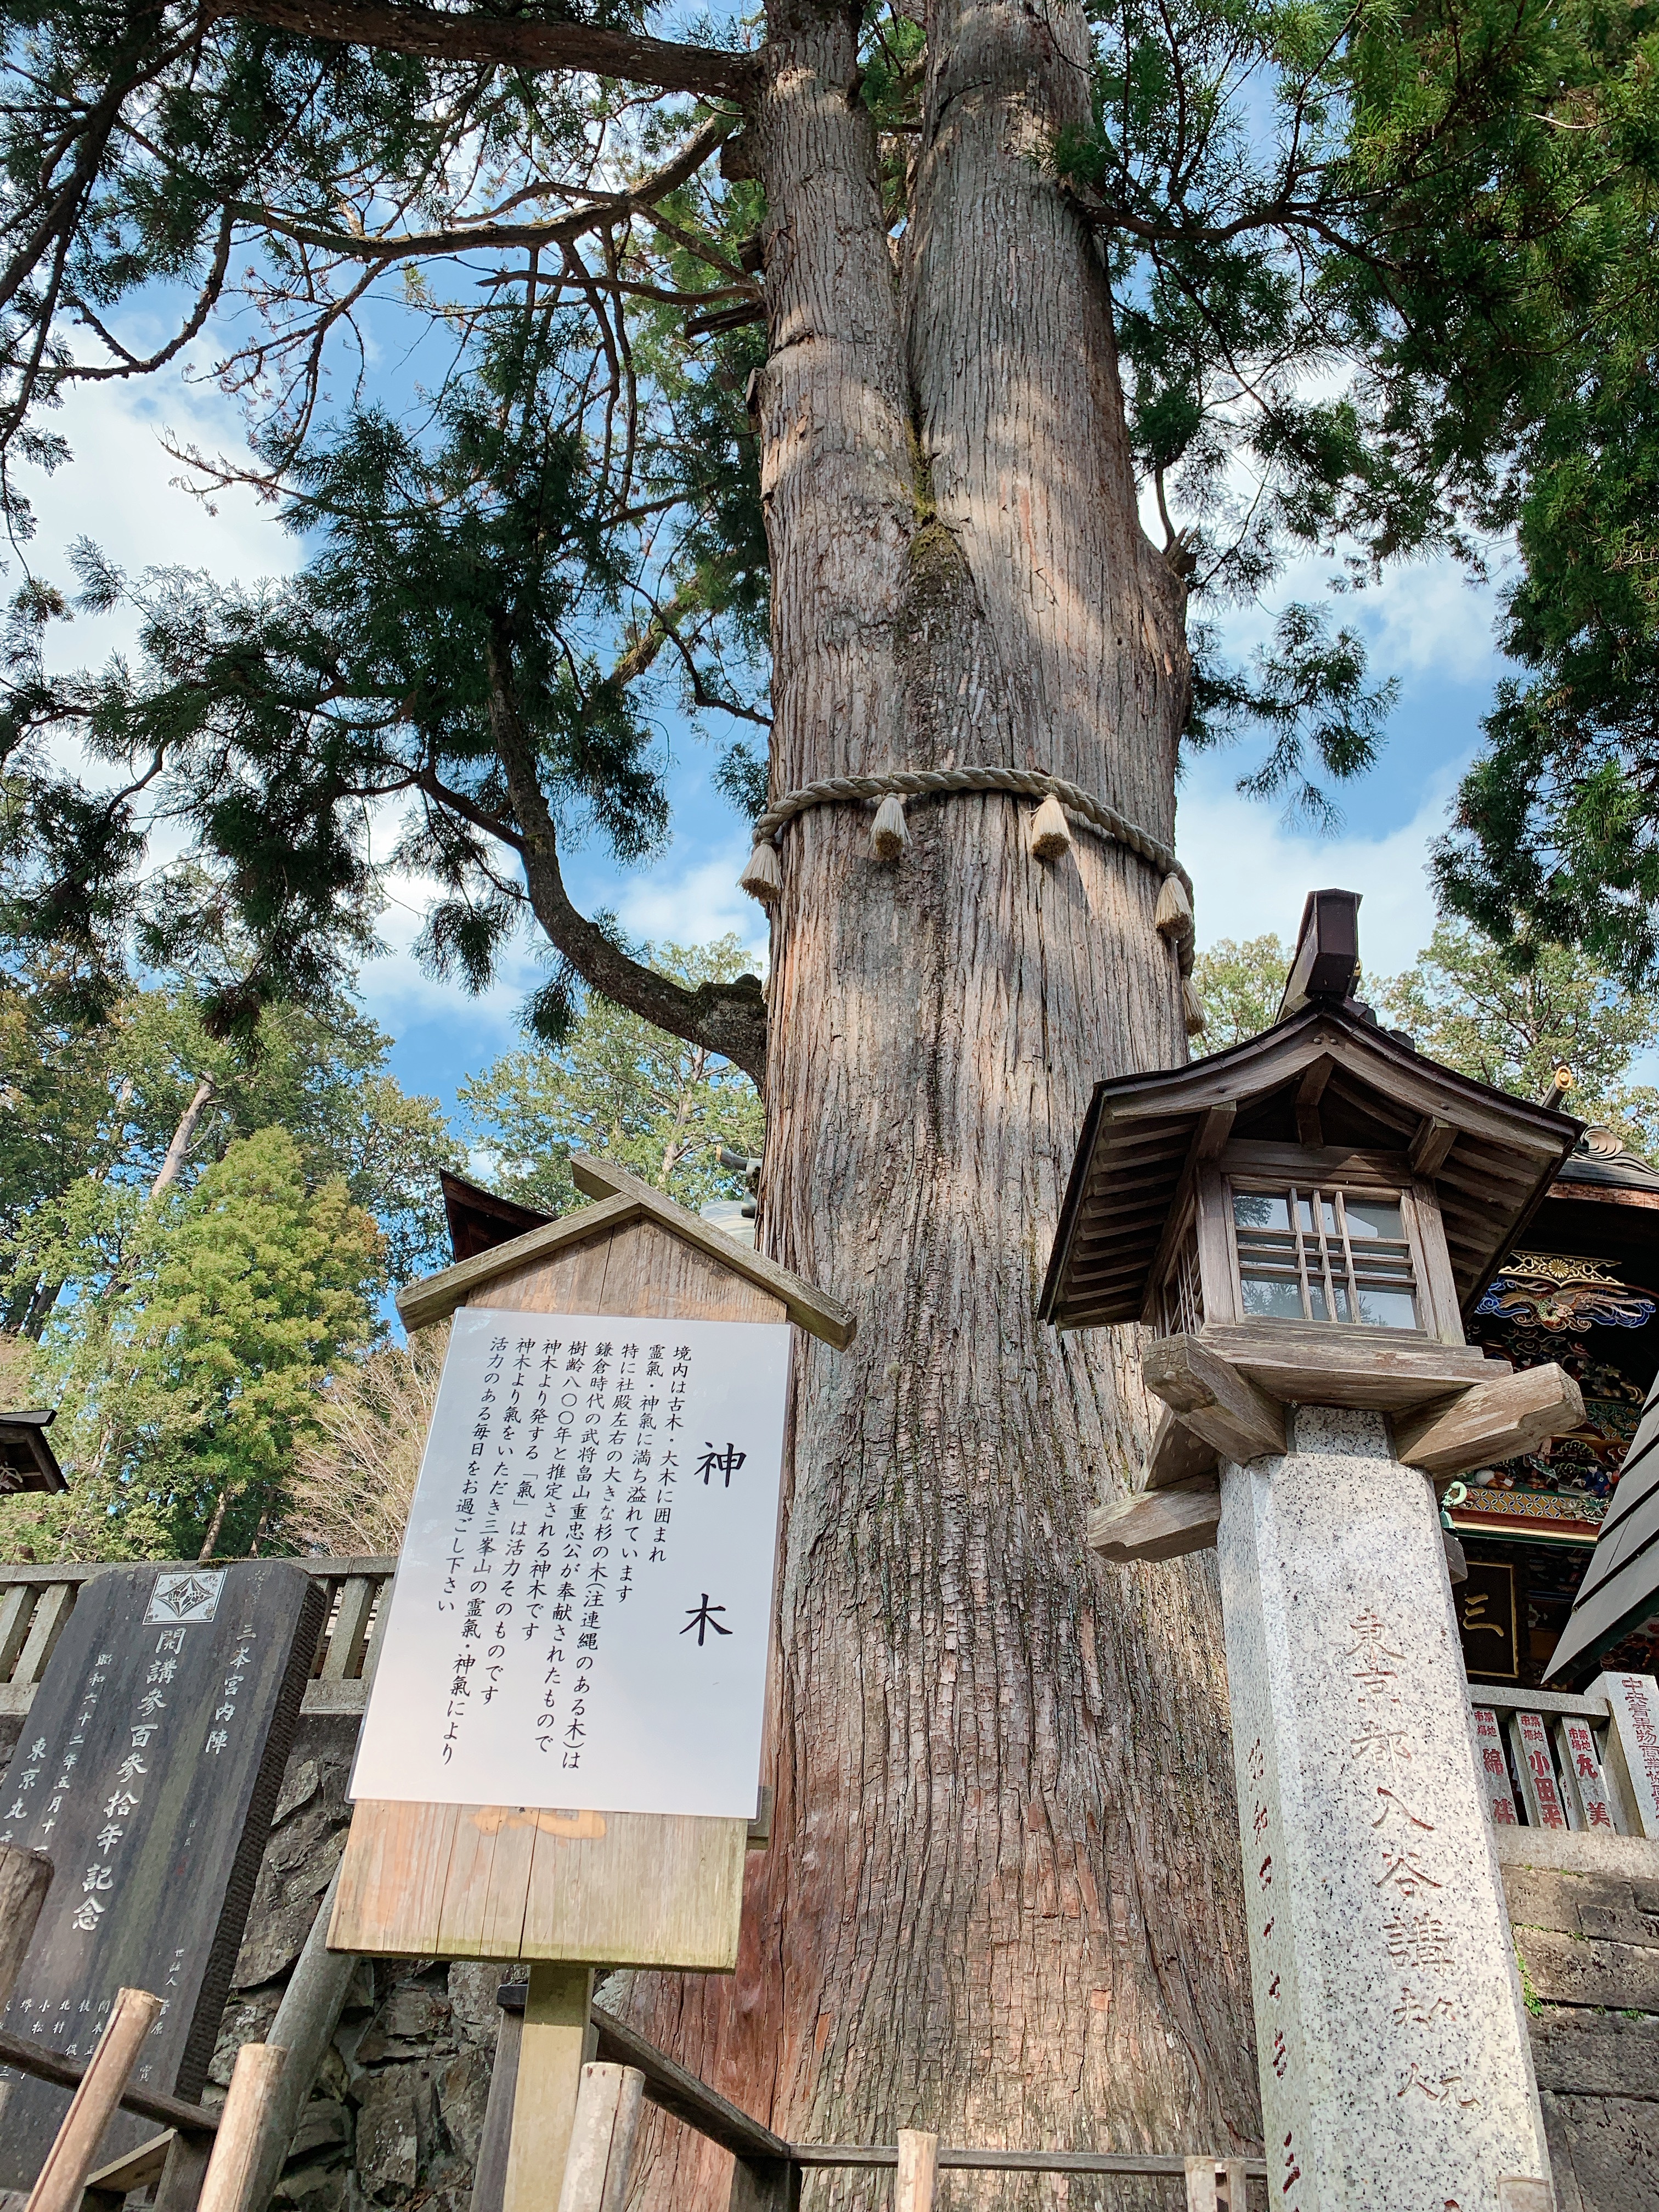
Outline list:
[[[734,936],[712,945],[646,945],[648,960],[688,989],[728,982],[748,964]],[[460,1084],[476,1146],[495,1161],[493,1181],[551,1214],[580,1206],[566,1161],[599,1152],[670,1192],[681,1206],[745,1194],[721,1168],[728,1144],[761,1157],[761,1097],[728,1060],[670,1037],[637,1013],[591,993],[560,1046],[507,1053]]]

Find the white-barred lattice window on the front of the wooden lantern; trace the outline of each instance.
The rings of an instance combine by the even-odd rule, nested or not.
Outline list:
[[[1338,1321],[1422,1329],[1396,1190],[1232,1186],[1245,1321]]]

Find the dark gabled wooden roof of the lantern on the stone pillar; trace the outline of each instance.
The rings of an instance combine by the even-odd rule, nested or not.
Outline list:
[[[1325,1146],[1422,1161],[1436,1183],[1458,1296],[1469,1310],[1544,1199],[1582,1121],[1425,1060],[1349,1011],[1314,1000],[1259,1037],[1155,1075],[1095,1086],[1060,1210],[1037,1312],[1062,1329],[1139,1321],[1188,1155],[1217,1108],[1228,1139],[1296,1144],[1296,1093],[1327,1062]],[[1429,1166],[1438,1157],[1436,1166]]]

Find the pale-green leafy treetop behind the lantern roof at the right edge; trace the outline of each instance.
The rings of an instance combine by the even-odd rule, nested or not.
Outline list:
[[[1606,1121],[1637,1152],[1659,1141],[1659,1091],[1624,1082],[1630,1062],[1659,1042],[1659,995],[1630,991],[1579,953],[1542,945],[1515,971],[1500,945],[1449,920],[1402,975],[1374,991],[1378,1011],[1409,1029],[1418,1051],[1460,1075],[1540,1099],[1555,1068],[1568,1066],[1568,1113]]]

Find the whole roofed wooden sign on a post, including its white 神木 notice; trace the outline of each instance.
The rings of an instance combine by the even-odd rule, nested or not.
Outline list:
[[[469,1425],[451,1427],[462,1398],[451,1389],[447,1409],[440,1389],[330,1924],[336,1951],[529,1962],[504,2212],[544,2212],[557,2199],[591,2057],[595,1966],[730,1973],[737,1964],[772,1619],[781,1400],[754,1464],[730,1422],[730,1436],[692,1429],[699,1407],[745,1400],[730,1389],[723,1332],[701,1325],[754,1329],[748,1398],[761,1427],[772,1418],[763,1398],[781,1325],[830,1345],[849,1343],[854,1329],[836,1298],[626,1170],[577,1157],[571,1172],[597,1206],[462,1261],[398,1301],[409,1327],[458,1316],[445,1385],[451,1367],[458,1385],[465,1376]],[[513,1329],[513,1316],[577,1316],[582,1325]],[[588,1327],[606,1316],[639,1327],[604,1336]],[[675,1323],[684,1323],[679,1334]],[[511,1363],[502,1354],[495,1374],[504,1380],[491,1383],[491,1345],[502,1343]],[[526,1378],[518,1389],[513,1374]],[[582,1427],[566,1420],[560,1429],[566,1374],[580,1383]],[[551,1376],[560,1387],[549,1394]],[[681,1427],[670,1433],[672,1400]],[[754,1557],[757,1495],[768,1500],[759,1528],[765,1588],[752,1608],[759,1619],[739,1632],[739,1610],[723,1613],[739,1599],[726,1599],[701,1562],[721,1528],[737,1546],[734,1575],[743,1546]],[[664,1575],[650,1582],[670,1559],[672,1590]],[[737,1586],[750,1588],[752,1577]],[[661,1648],[668,1613],[675,1672],[648,1677],[648,1648]],[[473,1635],[465,1635],[469,1619]],[[708,1686],[717,1670],[726,1670],[723,1690],[703,1694],[719,1719],[708,1756],[690,1770],[686,1730],[664,1730],[664,1717],[637,1697],[650,1679],[664,1697],[686,1694],[681,1683]],[[411,1683],[420,1686],[414,1708]],[[659,1730],[644,1747],[650,1756],[624,1741],[628,1712],[639,1730]],[[732,1778],[743,1741],[748,1803],[739,1807]],[[491,1761],[511,1743],[520,1745],[509,1767],[520,1803],[462,1803],[469,1776],[500,1772]],[[429,1794],[407,1794],[429,1783]],[[697,1809],[664,1809],[690,1803]]]

